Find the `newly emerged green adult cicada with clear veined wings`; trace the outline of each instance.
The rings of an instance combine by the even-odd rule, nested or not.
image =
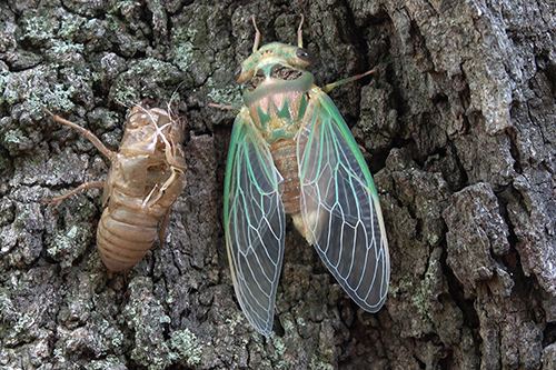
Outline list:
[[[255,17],[254,17],[255,23]],[[302,24],[302,19],[301,19]],[[377,191],[361,152],[305,68],[311,53],[272,42],[236,71],[244,106],[234,123],[225,186],[225,228],[236,294],[268,336],[280,277],[286,213],[340,286],[377,312],[388,292],[388,244]]]

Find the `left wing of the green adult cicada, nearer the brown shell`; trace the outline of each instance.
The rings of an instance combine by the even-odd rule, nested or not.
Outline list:
[[[239,304],[268,336],[284,257],[282,179],[252,127],[244,108],[234,124],[226,169],[226,244]]]

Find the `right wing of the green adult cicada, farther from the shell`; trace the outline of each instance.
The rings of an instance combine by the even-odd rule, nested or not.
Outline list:
[[[298,140],[306,237],[364,310],[378,311],[390,262],[378,194],[357,143],[330,98],[310,92]]]

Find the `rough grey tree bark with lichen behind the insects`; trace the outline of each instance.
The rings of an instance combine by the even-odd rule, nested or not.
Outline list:
[[[235,299],[222,183],[232,72],[305,44],[365,149],[391,256],[385,307],[356,307],[289,226],[275,329]],[[554,1],[0,2],[2,369],[555,369]],[[106,161],[48,107],[118,147],[127,109],[189,122],[167,244],[110,276],[95,248]]]

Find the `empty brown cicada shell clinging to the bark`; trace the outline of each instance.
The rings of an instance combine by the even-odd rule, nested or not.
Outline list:
[[[79,130],[111,162],[106,181],[82,183],[69,193],[50,199],[58,202],[90,188],[103,188],[105,211],[97,229],[97,248],[110,271],[133,267],[157,237],[163,243],[171,207],[186,187],[182,147],[185,121],[170,109],[136,104],[126,122],[117,152],[109,150],[91,131],[44,109],[56,121]]]

